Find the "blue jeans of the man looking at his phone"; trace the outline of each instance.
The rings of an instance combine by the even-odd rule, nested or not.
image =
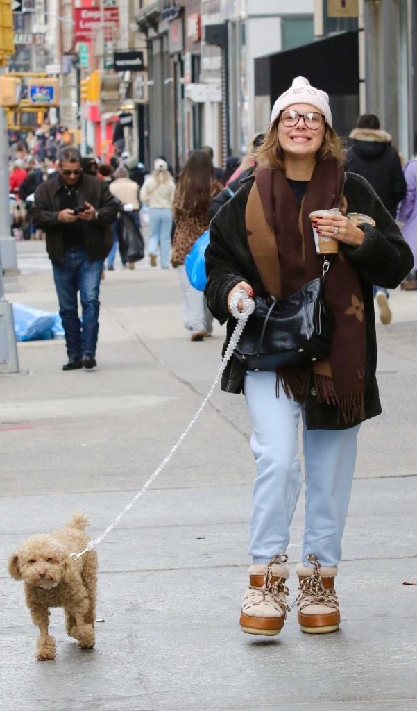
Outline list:
[[[89,262],[85,249],[71,247],[63,264],[53,262],[53,278],[60,304],[60,317],[70,360],[94,358],[99,334],[99,287],[103,261]],[[78,298],[82,323],[78,316]]]

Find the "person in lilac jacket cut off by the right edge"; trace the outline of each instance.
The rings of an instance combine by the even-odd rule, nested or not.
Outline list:
[[[408,242],[413,252],[414,268],[401,287],[411,291],[417,289],[417,159],[406,164],[404,177],[407,183],[407,194],[399,206],[398,221],[404,240]]]

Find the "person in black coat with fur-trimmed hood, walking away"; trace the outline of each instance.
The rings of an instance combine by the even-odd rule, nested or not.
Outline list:
[[[395,218],[407,186],[399,154],[391,146],[391,136],[381,129],[375,114],[362,114],[349,138],[352,145],[347,150],[347,169],[367,178],[381,202]],[[389,324],[392,314],[388,289],[375,285],[374,296],[381,323]]]

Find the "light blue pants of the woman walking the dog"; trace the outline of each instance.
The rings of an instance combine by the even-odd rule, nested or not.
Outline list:
[[[276,397],[275,373],[248,371],[244,392],[252,422],[256,461],[249,555],[267,563],[285,553],[301,487],[298,424],[303,419],[305,525],[301,560],[316,555],[321,565],[338,565],[342,556],[359,425],[350,429],[306,429],[303,406]]]

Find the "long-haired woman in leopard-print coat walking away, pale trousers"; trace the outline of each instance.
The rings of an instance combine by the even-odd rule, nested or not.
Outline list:
[[[205,296],[191,286],[185,272],[185,257],[197,237],[210,224],[210,201],[222,190],[222,184],[215,179],[212,159],[207,151],[193,151],[175,190],[174,223],[175,232],[171,262],[178,267],[184,296],[184,326],[191,331],[191,341],[202,341],[212,332],[210,315]]]

